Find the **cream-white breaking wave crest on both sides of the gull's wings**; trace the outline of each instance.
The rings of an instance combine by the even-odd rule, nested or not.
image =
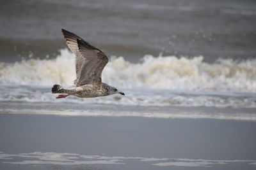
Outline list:
[[[75,78],[74,55],[60,50],[56,59],[29,59],[0,63],[2,85],[72,85]],[[140,63],[112,57],[102,73],[102,81],[124,89],[213,90],[256,92],[256,59],[237,62],[219,59],[213,64],[204,57],[153,57]]]

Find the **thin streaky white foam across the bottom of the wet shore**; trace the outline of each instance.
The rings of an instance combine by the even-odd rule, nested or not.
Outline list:
[[[93,165],[93,164],[127,164],[125,160],[150,162],[153,166],[178,166],[178,167],[212,167],[218,164],[249,164],[255,165],[256,160],[204,160],[204,159],[159,159],[146,157],[107,157],[101,155],[80,155],[75,153],[55,153],[55,152],[33,152],[33,153],[18,153],[6,154],[0,152],[0,160],[9,159],[11,161],[2,161],[5,164],[20,164],[20,165]],[[33,159],[33,160],[31,160]]]

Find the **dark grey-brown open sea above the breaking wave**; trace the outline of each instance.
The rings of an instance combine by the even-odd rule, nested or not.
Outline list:
[[[1,61],[56,57],[61,28],[108,55],[254,58],[256,3],[250,0],[1,1]],[[19,57],[18,57],[19,56]]]

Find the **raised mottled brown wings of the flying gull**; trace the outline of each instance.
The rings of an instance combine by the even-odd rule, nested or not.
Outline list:
[[[67,41],[68,48],[76,55],[76,80],[74,84],[81,86],[101,83],[101,73],[108,63],[108,57],[76,34],[65,29],[61,31]]]

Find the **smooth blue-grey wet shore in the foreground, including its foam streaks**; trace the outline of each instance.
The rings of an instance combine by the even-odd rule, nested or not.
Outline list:
[[[2,114],[0,169],[255,169],[255,129],[235,120]]]

